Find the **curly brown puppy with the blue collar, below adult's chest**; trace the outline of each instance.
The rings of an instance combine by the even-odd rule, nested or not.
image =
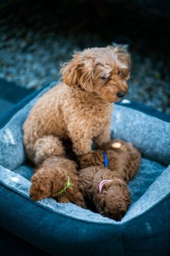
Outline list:
[[[88,166],[104,166],[103,152],[108,158],[108,166],[115,175],[128,182],[138,172],[141,155],[131,143],[113,140],[105,145],[104,150],[83,154],[78,157],[80,168]]]

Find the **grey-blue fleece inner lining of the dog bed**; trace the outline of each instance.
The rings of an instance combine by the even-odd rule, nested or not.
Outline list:
[[[39,93],[38,97],[46,90],[49,88]],[[38,97],[18,111],[0,131],[0,183],[27,198],[32,168],[24,164],[26,156],[22,143],[22,124]],[[59,204],[52,198],[35,204],[79,220],[119,224],[142,214],[167,196],[170,193],[170,166],[166,168],[170,162],[170,124],[131,108],[115,106],[112,131],[114,138],[130,141],[143,154],[139,172],[128,184],[131,207],[122,221],[104,218],[77,205]]]

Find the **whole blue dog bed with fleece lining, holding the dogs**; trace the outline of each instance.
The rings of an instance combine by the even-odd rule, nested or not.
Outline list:
[[[122,100],[113,111],[112,137],[133,143],[143,158],[128,186],[131,206],[121,221],[52,198],[33,202],[22,143],[32,106],[56,83],[34,92],[0,122],[0,225],[52,255],[167,255],[170,252],[170,118]]]

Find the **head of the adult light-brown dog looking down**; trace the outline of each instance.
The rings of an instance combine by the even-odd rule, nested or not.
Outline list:
[[[122,45],[85,49],[61,69],[64,83],[95,92],[107,102],[117,102],[127,93],[131,58]]]

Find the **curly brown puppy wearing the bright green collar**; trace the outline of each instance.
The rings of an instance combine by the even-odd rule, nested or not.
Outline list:
[[[69,178],[71,186],[59,195],[66,187]],[[53,197],[57,202],[72,202],[85,208],[85,201],[79,189],[79,177],[76,163],[64,157],[49,157],[31,178],[30,196],[32,200]]]

